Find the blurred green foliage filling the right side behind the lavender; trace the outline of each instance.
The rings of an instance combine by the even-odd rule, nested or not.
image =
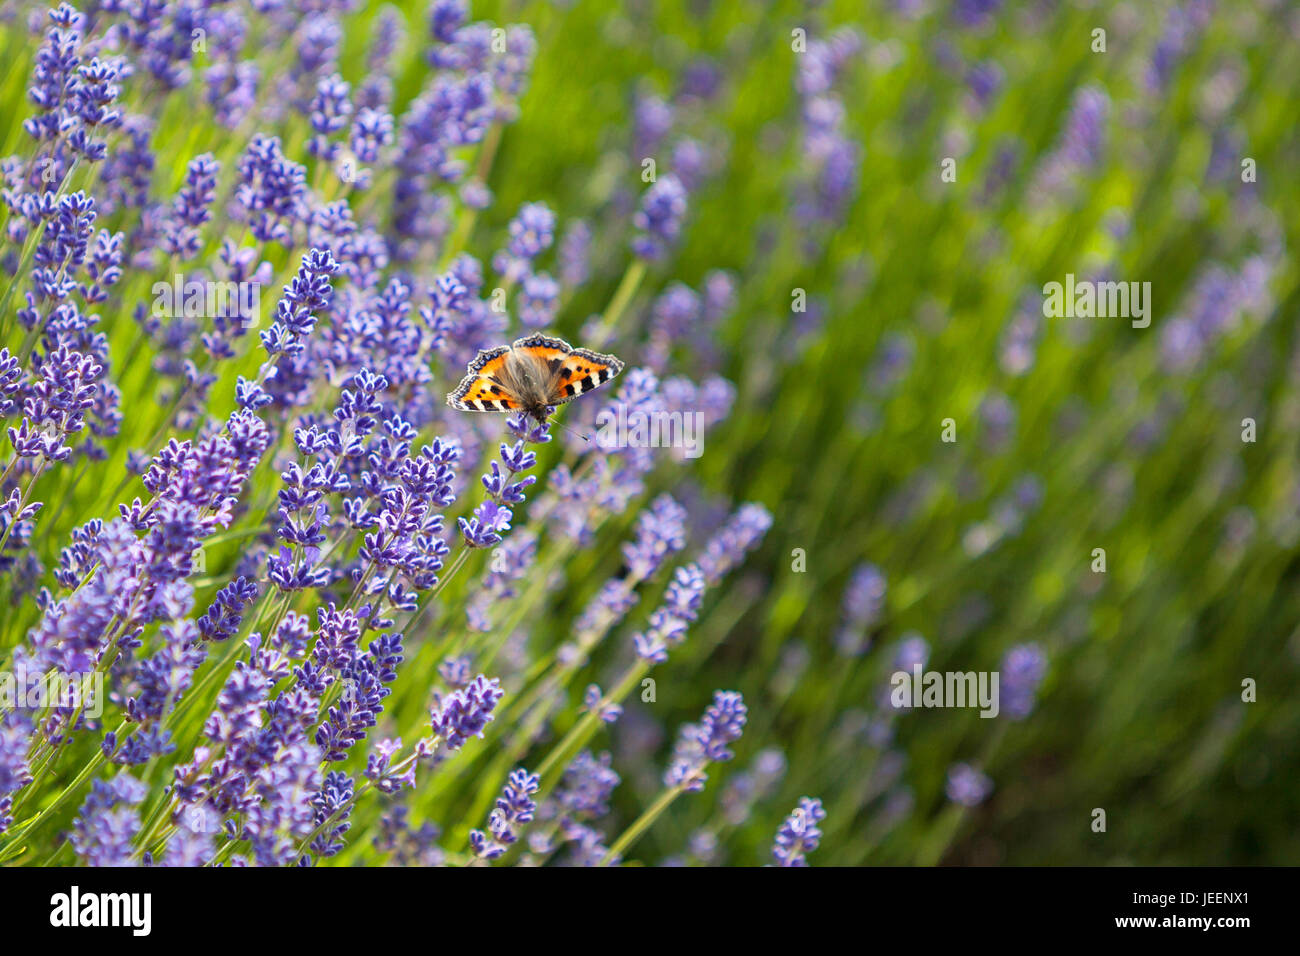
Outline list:
[[[672,277],[696,284],[715,267],[744,277],[724,332],[741,398],[699,467],[707,486],[767,503],[776,524],[723,598],[738,614],[725,640],[692,641],[660,680],[734,684],[764,728],[750,728],[740,761],[762,744],[789,760],[766,825],[724,840],[724,858],[760,857],[785,805],[810,793],[829,812],[814,862],[1294,864],[1300,70],[1284,51],[1297,12],[1219,4],[1153,90],[1148,73],[1187,4],[1008,4],[974,29],[948,4],[919,7],[915,17],[857,3],[551,12],[494,173],[498,216],[534,195],[598,211],[604,181],[592,170],[625,135],[629,90],[671,91],[699,51],[728,66],[708,113],[727,166],[693,204]],[[861,186],[809,258],[790,215],[790,30],[824,38],[841,26],[864,39],[840,85]],[[1105,53],[1092,51],[1098,26]],[[1005,74],[979,112],[963,82],[975,62]],[[1110,99],[1102,157],[1069,199],[1035,195],[1034,172],[1087,85]],[[1238,150],[1216,178],[1219,137]],[[1018,170],[982,202],[1006,142],[1022,150]],[[957,159],[954,183],[941,182],[945,156]],[[1238,174],[1247,156],[1254,183]],[[1193,368],[1166,368],[1162,336],[1196,307],[1197,281],[1270,243],[1270,303]],[[1041,286],[1067,272],[1149,281],[1150,328],[1041,320],[1036,360],[1009,375],[1000,350],[1022,299],[1037,308]],[[796,287],[820,299],[826,320],[792,355]],[[592,290],[590,310],[602,300]],[[896,336],[914,356],[880,393],[872,363]],[[994,394],[1015,424],[989,449],[979,408]],[[945,418],[954,445],[940,442]],[[1258,423],[1257,442],[1242,441],[1243,418]],[[970,554],[968,529],[1024,475],[1041,481],[1040,509]],[[806,574],[790,570],[794,548],[807,551]],[[1105,575],[1089,570],[1095,548]],[[915,806],[883,835],[883,799],[863,800],[880,753],[855,711],[874,708],[888,652],[846,659],[833,645],[840,594],[863,561],[889,583],[878,648],[918,631],[939,670],[993,669],[1024,641],[1049,653],[1026,721],[936,710],[900,721]],[[1244,678],[1258,683],[1254,704],[1242,701]],[[693,718],[694,701],[660,701],[666,726]],[[996,790],[957,814],[944,775],[979,757]],[[708,803],[680,801],[647,842],[673,852],[710,819]],[[1091,830],[1093,808],[1106,810],[1105,834]]]

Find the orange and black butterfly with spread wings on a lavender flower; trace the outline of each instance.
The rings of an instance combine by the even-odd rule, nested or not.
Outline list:
[[[572,402],[623,371],[623,362],[563,338],[534,333],[514,345],[485,349],[447,395],[460,411],[523,411],[545,423],[551,406]]]

